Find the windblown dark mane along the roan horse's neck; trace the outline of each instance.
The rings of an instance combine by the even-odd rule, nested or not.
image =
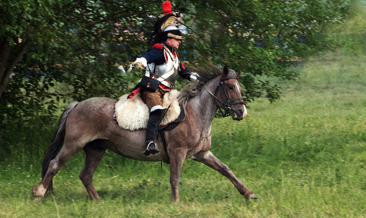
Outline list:
[[[208,83],[210,80],[223,75],[223,70],[215,67],[212,64],[206,64],[204,67],[194,67],[193,72],[198,74],[198,79],[195,83],[190,83],[180,91],[178,97],[180,106],[186,112],[186,105],[188,101],[196,96],[199,91],[203,88],[203,85]],[[234,70],[229,69],[229,74],[223,76],[222,80],[236,78],[236,73]]]

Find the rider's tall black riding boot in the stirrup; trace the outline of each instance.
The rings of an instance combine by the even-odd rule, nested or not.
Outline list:
[[[166,109],[156,109],[150,112],[149,122],[147,123],[147,131],[146,131],[146,150],[143,153],[146,156],[160,152],[159,148],[156,147],[154,140],[156,133],[158,131],[160,121],[163,119],[165,110]]]

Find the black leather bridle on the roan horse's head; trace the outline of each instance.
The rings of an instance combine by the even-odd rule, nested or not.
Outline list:
[[[226,80],[226,79],[220,79],[220,82],[219,82],[219,84],[217,84],[214,94],[212,94],[212,92],[206,87],[206,84],[204,84],[203,87],[206,89],[206,91],[208,91],[208,93],[210,93],[214,97],[214,99],[213,99],[214,104],[216,104],[215,100],[217,100],[220,102],[221,105],[224,106],[224,112],[223,112],[221,110],[221,107],[216,104],[216,106],[219,107],[221,115],[223,117],[228,117],[228,116],[230,116],[228,109],[232,110],[232,108],[230,108],[231,105],[235,105],[235,104],[244,104],[245,105],[245,102],[243,101],[243,98],[235,98],[235,99],[229,98],[228,94],[226,93],[226,91],[224,89],[224,83],[223,83],[224,80]],[[217,98],[217,94],[219,94],[219,91],[221,93],[221,97],[223,97],[225,102],[222,102],[219,98]],[[240,101],[237,101],[237,100],[240,100]],[[235,101],[237,101],[237,102],[235,102]]]

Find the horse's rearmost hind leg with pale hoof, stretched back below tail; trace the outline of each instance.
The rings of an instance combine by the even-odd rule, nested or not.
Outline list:
[[[76,153],[76,151],[78,151],[78,149],[76,149],[75,147],[71,148],[68,146],[63,146],[59,154],[57,154],[56,158],[49,162],[48,169],[45,176],[42,179],[42,183],[40,185],[33,185],[32,187],[33,196],[35,199],[41,199],[44,197],[48,185],[52,182],[53,176],[55,176],[57,172],[59,172],[61,166],[63,166],[64,163],[66,163],[66,161],[73,154]],[[49,191],[52,192],[52,190]]]

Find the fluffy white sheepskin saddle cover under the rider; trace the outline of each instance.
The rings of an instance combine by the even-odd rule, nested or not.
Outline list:
[[[124,129],[137,130],[146,129],[147,121],[149,121],[150,110],[142,101],[140,94],[135,95],[131,99],[127,99],[127,95],[119,97],[119,101],[115,106],[115,115],[118,125]],[[167,125],[176,120],[180,114],[180,106],[178,102],[179,91],[172,90],[163,96],[163,108],[168,108],[160,125]]]

